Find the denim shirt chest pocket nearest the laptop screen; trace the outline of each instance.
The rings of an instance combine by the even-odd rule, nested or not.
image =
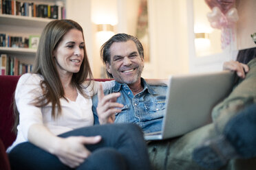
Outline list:
[[[163,117],[164,110],[166,107],[165,100],[156,100],[151,102],[145,102],[145,119],[160,119]]]

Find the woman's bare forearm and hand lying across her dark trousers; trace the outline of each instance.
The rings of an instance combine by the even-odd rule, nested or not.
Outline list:
[[[57,156],[63,164],[74,168],[81,165],[85,158],[91,154],[85,145],[98,143],[101,136],[61,138],[52,134],[44,125],[34,123],[30,125],[28,130],[28,140],[30,143]]]

